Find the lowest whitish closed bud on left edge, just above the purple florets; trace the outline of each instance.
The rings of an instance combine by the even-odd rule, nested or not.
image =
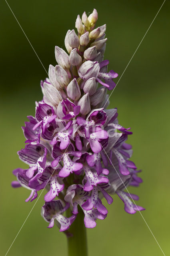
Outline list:
[[[53,106],[57,106],[62,100],[60,92],[52,84],[47,84],[46,82],[44,82],[43,87],[46,98],[48,98]]]

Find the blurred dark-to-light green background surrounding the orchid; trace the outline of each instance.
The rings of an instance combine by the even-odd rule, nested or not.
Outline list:
[[[54,46],[64,48],[68,29],[74,28],[77,14],[98,10],[98,23],[107,24],[105,58],[109,68],[124,71],[163,0],[57,1],[8,0],[46,70],[56,64]],[[26,165],[17,150],[24,147],[21,126],[34,115],[35,101],[41,100],[40,80],[47,75],[4,0],[0,4],[1,31],[1,255],[5,255],[35,201],[24,202],[29,191],[13,189],[12,170]],[[118,81],[118,78],[117,78]],[[119,122],[131,127],[129,136],[144,183],[129,188],[140,196],[142,215],[166,255],[170,254],[170,1],[166,1],[144,41],[134,55],[110,98],[117,107]],[[44,191],[45,193],[45,191]],[[44,193],[36,203],[8,255],[66,256],[64,234],[48,229],[40,216]],[[40,193],[39,193],[40,194]],[[106,204],[105,204],[106,205]],[[87,230],[89,256],[163,255],[139,212],[124,212],[114,196],[107,205],[108,217]]]

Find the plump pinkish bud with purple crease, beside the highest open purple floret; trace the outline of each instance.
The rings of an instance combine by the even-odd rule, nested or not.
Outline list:
[[[78,74],[83,80],[87,80],[90,77],[97,77],[100,70],[98,62],[92,62],[90,60],[85,61],[79,68]]]

